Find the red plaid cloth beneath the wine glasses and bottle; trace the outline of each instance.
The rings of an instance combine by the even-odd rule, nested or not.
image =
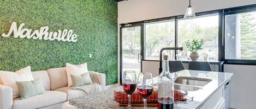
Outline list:
[[[184,97],[184,93],[177,91],[177,90],[174,91],[174,100],[175,101],[180,101],[183,99],[183,97]],[[114,99],[118,103],[122,103],[122,104],[128,103],[128,96],[127,96],[127,93],[124,91],[114,91]],[[143,99],[141,98],[140,94],[135,91],[131,95],[130,102],[132,102],[132,103],[143,102]],[[153,91],[153,93],[150,95],[150,97],[147,98],[147,102],[158,102],[157,101],[157,91]]]

